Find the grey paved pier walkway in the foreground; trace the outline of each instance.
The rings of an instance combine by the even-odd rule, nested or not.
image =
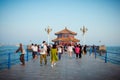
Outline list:
[[[83,55],[76,59],[67,54],[52,68],[48,64],[40,66],[39,57],[30,60],[25,66],[14,65],[10,70],[0,71],[0,80],[120,80],[120,65],[104,63],[93,56]]]

